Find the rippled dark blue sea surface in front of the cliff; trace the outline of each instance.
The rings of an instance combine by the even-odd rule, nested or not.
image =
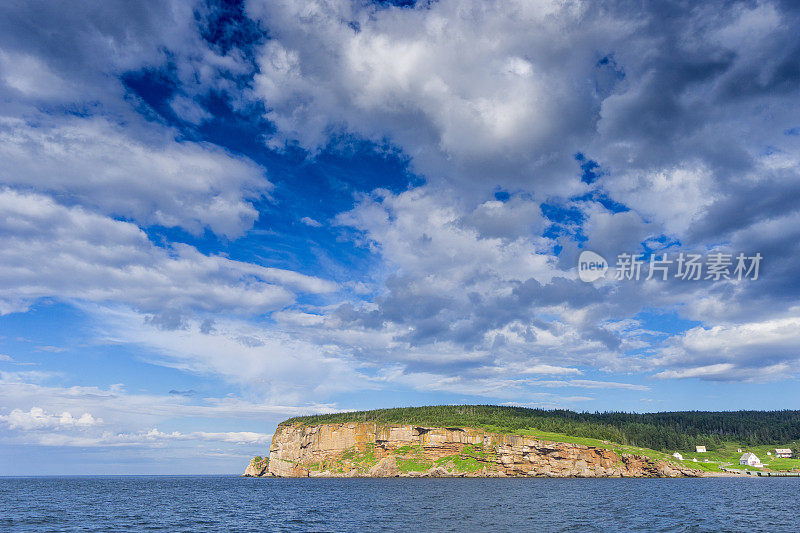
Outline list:
[[[0,531],[798,531],[800,478],[0,478]]]

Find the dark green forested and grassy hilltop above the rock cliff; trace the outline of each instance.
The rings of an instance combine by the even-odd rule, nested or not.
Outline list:
[[[512,432],[609,441],[661,452],[694,450],[705,445],[730,459],[730,450],[792,448],[800,456],[800,411],[685,411],[672,413],[576,413],[496,405],[440,405],[354,411],[290,418],[281,425],[341,422],[475,427]],[[588,442],[584,442],[588,444]],[[763,448],[763,450],[761,450]],[[692,457],[690,455],[690,457]],[[759,455],[759,457],[761,457]],[[707,457],[704,457],[707,458]],[[736,457],[738,460],[738,456]],[[762,457],[766,460],[767,457]],[[800,465],[798,465],[800,466]]]

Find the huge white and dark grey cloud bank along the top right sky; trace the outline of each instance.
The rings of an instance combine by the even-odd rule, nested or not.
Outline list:
[[[248,13],[272,37],[254,94],[274,144],[388,137],[430,180],[540,198],[585,190],[573,161],[585,151],[618,201],[670,232],[767,146],[796,149],[783,135],[798,120],[787,4],[319,0]]]

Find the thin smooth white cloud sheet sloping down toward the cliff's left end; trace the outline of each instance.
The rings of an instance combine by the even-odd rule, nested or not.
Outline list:
[[[165,330],[145,324],[141,314],[125,309],[87,311],[105,341],[137,345],[153,363],[256,387],[275,402],[375,388],[360,372],[349,347],[317,339],[307,331],[231,319],[217,320],[210,333],[202,333],[193,320],[185,329]],[[307,325],[315,329],[314,322]]]

